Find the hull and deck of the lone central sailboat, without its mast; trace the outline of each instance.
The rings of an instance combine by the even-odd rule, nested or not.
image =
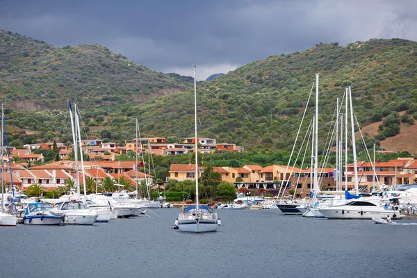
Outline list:
[[[217,213],[213,213],[208,206],[199,206],[198,210],[195,206],[191,206],[183,208],[183,213],[179,214],[172,229],[202,233],[217,231],[218,226],[221,224],[222,222],[218,218]]]

